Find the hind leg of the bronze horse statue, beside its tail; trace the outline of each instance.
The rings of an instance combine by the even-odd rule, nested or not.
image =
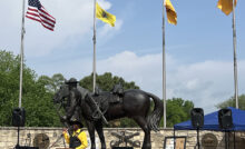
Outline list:
[[[150,143],[150,129],[147,125],[147,121],[144,117],[135,117],[134,120],[139,125],[139,127],[144,130],[145,137],[141,149],[151,149]]]

